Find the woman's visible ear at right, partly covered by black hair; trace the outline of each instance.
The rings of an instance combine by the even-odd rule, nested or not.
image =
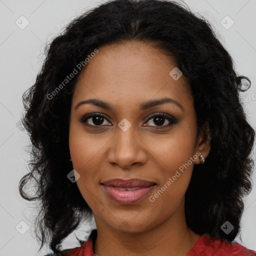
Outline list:
[[[195,147],[194,147],[194,154],[197,155],[198,157],[195,159],[195,163],[199,164],[200,163],[200,158],[199,156],[202,154],[204,159],[207,157],[207,155],[210,152],[210,132],[209,132],[209,127],[208,123],[205,123],[195,142]]]

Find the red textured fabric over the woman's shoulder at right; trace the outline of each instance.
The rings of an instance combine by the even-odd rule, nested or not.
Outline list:
[[[254,256],[256,252],[238,244],[227,242],[218,238],[212,238],[203,234],[189,251],[187,256]]]

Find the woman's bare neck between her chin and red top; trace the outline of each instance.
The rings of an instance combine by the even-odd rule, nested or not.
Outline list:
[[[185,256],[199,238],[186,224],[184,205],[163,222],[140,232],[120,231],[94,217],[97,238],[93,250],[99,256]]]

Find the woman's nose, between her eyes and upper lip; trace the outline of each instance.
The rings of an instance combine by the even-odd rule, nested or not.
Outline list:
[[[135,164],[144,164],[147,160],[146,145],[132,126],[123,131],[117,128],[116,135],[110,142],[107,160],[123,169],[130,169]]]

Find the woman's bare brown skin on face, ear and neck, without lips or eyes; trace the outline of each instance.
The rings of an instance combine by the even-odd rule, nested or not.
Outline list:
[[[155,199],[149,200],[178,168],[199,151],[206,157],[208,136],[196,139],[196,113],[188,81],[182,75],[174,80],[169,72],[176,65],[152,43],[129,41],[98,48],[77,80],[70,112],[69,149],[76,183],[97,227],[94,253],[108,255],[185,255],[198,240],[186,224],[184,195],[197,157],[183,173]],[[182,105],[163,103],[140,109],[142,102],[170,97]],[[111,104],[113,110],[91,103],[96,98]],[[106,116],[101,123],[89,113]],[[152,113],[173,116],[159,125]],[[123,131],[118,123],[126,118],[131,126]],[[87,124],[87,125],[86,125]],[[90,125],[91,126],[90,126]],[[94,126],[93,126],[94,125]],[[101,126],[100,126],[101,125]],[[140,178],[155,182],[151,192],[133,204],[112,201],[100,185],[111,178]],[[124,227],[124,228],[123,228]]]

